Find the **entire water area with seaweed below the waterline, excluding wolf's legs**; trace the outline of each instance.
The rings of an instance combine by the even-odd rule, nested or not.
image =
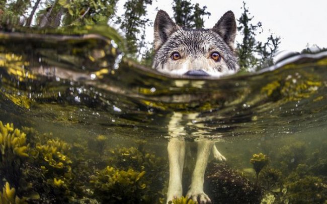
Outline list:
[[[326,51],[217,79],[160,74],[120,43],[0,32],[0,203],[166,203],[172,139],[187,145],[183,195],[213,141],[212,203],[327,203]]]

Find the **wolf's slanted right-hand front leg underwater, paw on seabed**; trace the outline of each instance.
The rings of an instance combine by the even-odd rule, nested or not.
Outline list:
[[[209,155],[214,142],[200,141],[198,142],[198,153],[195,168],[192,174],[192,181],[187,197],[191,197],[198,203],[211,203],[207,194],[203,191],[204,173],[208,164]]]

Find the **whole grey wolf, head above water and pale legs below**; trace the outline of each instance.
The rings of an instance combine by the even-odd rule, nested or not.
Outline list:
[[[169,15],[159,11],[154,22],[153,68],[171,75],[221,76],[238,70],[233,53],[236,22],[231,11],[225,13],[212,29],[188,29],[177,26]],[[168,144],[169,187],[167,199],[182,196],[182,172],[185,158],[185,134],[179,122],[194,119],[196,114],[175,112],[169,123],[172,136]],[[204,172],[210,150],[220,161],[225,158],[211,141],[198,142],[198,153],[188,197],[199,203],[210,203],[203,191]]]

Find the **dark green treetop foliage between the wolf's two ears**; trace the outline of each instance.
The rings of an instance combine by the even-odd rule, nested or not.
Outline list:
[[[177,25],[189,28],[203,28],[205,16],[211,14],[206,11],[207,7],[199,7],[199,4],[192,4],[187,0],[174,0],[173,11]]]

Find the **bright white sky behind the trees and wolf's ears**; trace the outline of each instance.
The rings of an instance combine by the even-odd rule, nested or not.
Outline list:
[[[119,1],[118,15],[123,14],[125,1]],[[201,7],[207,6],[211,13],[209,19],[205,18],[205,28],[213,27],[219,18],[228,10],[234,12],[236,19],[242,13],[243,0],[192,0],[193,4],[199,3]],[[265,42],[269,33],[280,36],[281,50],[301,51],[307,44],[316,44],[319,47],[327,47],[327,0],[251,0],[246,1],[247,7],[254,16],[252,21],[256,24],[262,22],[264,32],[258,34],[257,39]],[[147,8],[147,18],[154,21],[156,8],[165,10],[173,17],[172,0],[153,0]],[[146,40],[153,41],[153,28],[146,29]],[[240,41],[240,34],[236,40]]]

